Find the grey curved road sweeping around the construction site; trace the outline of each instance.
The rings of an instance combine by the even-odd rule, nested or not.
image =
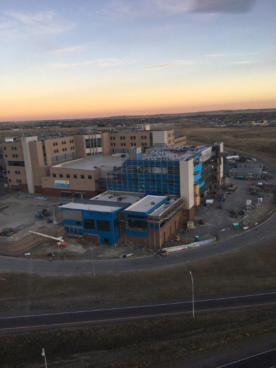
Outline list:
[[[248,156],[251,156],[248,154]],[[257,156],[254,156],[257,157]],[[266,159],[260,158],[276,175],[276,165]],[[222,240],[214,244],[208,244],[198,248],[171,253],[169,257],[160,259],[155,256],[94,261],[95,273],[129,271],[152,267],[169,266],[176,263],[188,263],[251,245],[255,242],[271,237],[276,233],[276,215],[257,227],[242,233],[236,237]],[[0,270],[28,273],[52,273],[52,274],[77,274],[91,273],[92,261],[53,261],[30,260],[0,256]]]

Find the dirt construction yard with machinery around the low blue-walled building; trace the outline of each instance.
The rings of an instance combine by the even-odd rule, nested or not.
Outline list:
[[[138,229],[133,228],[133,226],[140,226],[140,232],[143,232],[143,223],[136,221],[134,213],[137,216],[137,213],[144,208],[146,199],[139,205],[140,197],[134,197],[133,205],[125,210],[126,215],[129,216],[128,227],[125,231],[121,228],[122,234],[127,231],[130,234],[122,235],[120,241],[110,247],[107,244],[101,244],[93,237],[74,232],[70,234],[66,231],[65,227],[68,225],[64,223],[62,208],[68,207],[71,203],[70,199],[11,193],[0,198],[0,254],[49,260],[91,260],[93,257],[95,259],[143,257],[155,254],[156,251],[158,253],[161,248],[173,250],[173,247],[180,246],[179,249],[189,249],[207,244],[210,239],[213,242],[234,237],[262,223],[275,212],[275,193],[276,185],[272,182],[241,181],[226,177],[220,191],[209,193],[201,199],[201,205],[195,209],[194,220],[179,222],[176,231],[171,230],[171,235],[168,230],[168,237],[162,246],[158,245],[154,248],[146,238],[141,244],[139,238],[135,236]],[[137,198],[138,202],[136,202]],[[114,201],[114,198],[109,199],[111,200]],[[165,213],[174,214],[175,210],[181,209],[181,206],[183,208],[184,205],[183,201],[181,205],[179,200],[173,199],[169,203],[165,197],[164,200],[162,197],[158,200],[161,201],[161,207],[158,209],[155,209],[152,198],[149,198],[150,202],[146,204],[153,210],[148,216],[150,222],[156,219],[157,223],[162,221],[162,217],[161,221],[156,218],[164,212],[162,206],[165,210],[166,206],[170,208]],[[127,201],[130,201],[129,196]],[[77,202],[75,202],[76,205]],[[120,203],[120,206],[122,205]],[[151,238],[153,239],[153,235]]]

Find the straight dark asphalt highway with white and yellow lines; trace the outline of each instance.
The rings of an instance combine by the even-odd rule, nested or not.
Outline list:
[[[276,305],[276,289],[250,294],[195,298],[195,314],[245,310]],[[192,315],[191,298],[177,301],[132,303],[83,310],[49,310],[0,313],[0,333],[106,324],[164,316]]]

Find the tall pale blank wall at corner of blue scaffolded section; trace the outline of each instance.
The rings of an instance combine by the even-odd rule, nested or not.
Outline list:
[[[186,201],[186,209],[194,206],[194,161],[179,161],[180,195]]]

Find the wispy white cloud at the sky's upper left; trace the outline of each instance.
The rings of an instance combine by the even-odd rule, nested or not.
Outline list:
[[[6,12],[6,20],[0,24],[0,34],[17,36],[22,34],[58,34],[75,27],[75,23],[60,20],[55,12],[39,13]]]

